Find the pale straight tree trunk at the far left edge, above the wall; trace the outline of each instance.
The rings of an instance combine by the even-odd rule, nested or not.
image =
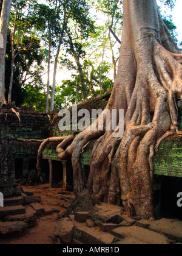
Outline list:
[[[10,20],[12,0],[4,0],[2,3],[1,18],[0,18],[0,35],[2,44],[0,47],[0,104],[5,103],[4,88],[5,88],[5,53],[7,44],[8,22]]]

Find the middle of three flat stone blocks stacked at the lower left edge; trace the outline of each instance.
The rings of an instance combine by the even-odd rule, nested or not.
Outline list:
[[[5,206],[0,208],[0,218],[24,213],[26,213],[26,210],[22,205]]]

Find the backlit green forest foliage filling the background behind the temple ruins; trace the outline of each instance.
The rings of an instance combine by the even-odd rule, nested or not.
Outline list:
[[[174,8],[175,0],[158,1],[165,7]],[[66,66],[72,76],[56,85],[55,108],[75,104],[76,96],[78,102],[83,100],[83,79],[89,98],[113,87],[110,72],[114,65],[116,67],[118,59],[120,44],[117,38],[121,39],[123,25],[122,0],[13,0],[5,69],[6,97],[17,3],[15,50],[18,55],[14,65],[12,101],[18,107],[24,104],[39,111],[45,110],[46,85],[41,76],[47,68],[49,39],[51,37],[53,62],[61,33],[59,66]],[[2,0],[0,9],[1,5]],[[96,16],[90,14],[90,5],[96,10]],[[99,16],[103,18],[103,23],[97,21]],[[171,16],[163,16],[163,20],[177,42]]]

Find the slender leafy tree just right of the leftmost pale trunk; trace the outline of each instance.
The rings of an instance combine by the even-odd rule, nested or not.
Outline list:
[[[35,24],[35,20],[33,19],[34,7],[35,5],[32,4],[32,1],[19,0],[12,4],[12,12],[10,15],[10,23],[8,26],[11,37],[12,53],[10,68],[10,85],[8,87],[8,102],[10,103],[12,102],[12,87],[13,74],[15,69],[15,59],[18,57],[18,55],[26,55],[26,52],[32,55],[32,52],[36,52],[39,50],[38,48],[40,48],[38,47],[40,40],[36,37],[33,31],[33,25]],[[35,53],[34,55],[38,56],[41,55],[41,53]],[[28,59],[30,60],[30,57],[28,57]]]

